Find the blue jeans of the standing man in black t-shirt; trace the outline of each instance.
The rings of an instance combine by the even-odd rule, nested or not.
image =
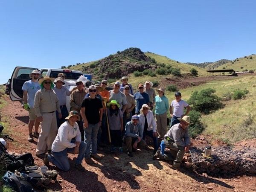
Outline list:
[[[90,124],[88,123],[88,127],[84,129],[84,142],[87,143],[86,151],[84,158],[90,158],[91,154],[97,153],[97,135],[99,130],[99,123]]]

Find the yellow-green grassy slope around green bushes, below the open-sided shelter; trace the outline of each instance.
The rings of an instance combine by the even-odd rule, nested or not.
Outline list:
[[[183,99],[188,100],[193,91],[200,91],[206,88],[213,88],[216,94],[220,97],[224,93],[230,93],[241,87],[246,88],[250,92],[244,99],[224,102],[226,105],[223,109],[219,109],[209,115],[202,116],[202,122],[206,125],[205,134],[210,134],[212,137],[224,140],[228,143],[234,143],[241,139],[248,139],[252,135],[241,130],[244,119],[249,115],[256,116],[256,76],[241,76],[234,77],[230,80],[212,81],[208,84],[203,84],[197,87],[190,87],[180,90]],[[173,93],[168,95],[169,101],[173,100]],[[255,118],[254,118],[255,121]],[[231,129],[232,128],[232,129]],[[240,130],[240,131],[239,131]],[[233,131],[233,133],[231,133]],[[243,132],[241,134],[241,132]]]

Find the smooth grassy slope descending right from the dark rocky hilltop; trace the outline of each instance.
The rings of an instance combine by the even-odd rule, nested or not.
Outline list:
[[[198,70],[199,76],[207,76],[207,72],[203,68],[192,66],[189,64],[180,63],[180,62],[177,63],[177,61],[175,61],[175,60],[172,60],[168,57],[165,57],[162,55],[157,55],[154,53],[145,53],[145,55],[150,56],[151,58],[154,58],[158,63],[165,63],[165,64],[171,65],[174,68],[180,68],[181,73],[190,73],[189,70],[191,70],[192,68],[195,68],[196,70]]]

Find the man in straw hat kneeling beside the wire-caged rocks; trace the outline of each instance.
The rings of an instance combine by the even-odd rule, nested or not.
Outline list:
[[[185,152],[189,151],[191,146],[188,126],[190,124],[190,117],[183,116],[183,118],[178,118],[180,123],[173,125],[167,134],[164,136],[164,140],[161,142],[160,150],[154,155],[155,158],[159,156],[160,159],[170,160],[169,157],[164,154],[164,149],[169,148],[173,157],[175,157],[172,169],[178,169],[180,167],[180,162],[183,159]]]

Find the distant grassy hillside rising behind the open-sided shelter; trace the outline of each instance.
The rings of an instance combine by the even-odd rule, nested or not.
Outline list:
[[[250,59],[250,56],[252,56],[252,59]],[[215,69],[223,69],[225,67],[226,69],[233,69],[235,71],[242,71],[242,70],[256,70],[256,55],[249,55],[247,58],[239,58],[239,61],[226,63],[224,65],[221,65]],[[243,69],[241,69],[243,67]]]

